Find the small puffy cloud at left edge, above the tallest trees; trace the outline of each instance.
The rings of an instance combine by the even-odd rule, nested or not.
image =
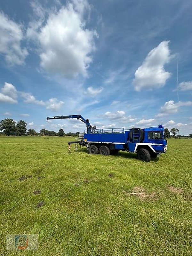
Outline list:
[[[4,87],[1,88],[0,92],[0,102],[4,103],[17,103],[17,90],[14,85],[6,83]]]

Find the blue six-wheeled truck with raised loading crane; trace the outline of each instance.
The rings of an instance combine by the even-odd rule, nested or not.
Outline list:
[[[134,152],[138,159],[149,162],[167,151],[167,140],[164,135],[164,126],[158,125],[145,129],[132,128],[107,128],[96,129],[90,124],[89,119],[81,115],[51,116],[50,119],[76,118],[86,124],[87,129],[79,135],[78,140],[69,141],[68,144],[80,144],[87,147],[90,154],[108,156],[120,150]]]

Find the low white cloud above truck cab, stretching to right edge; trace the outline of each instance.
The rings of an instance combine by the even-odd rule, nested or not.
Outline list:
[[[182,106],[192,106],[192,101],[179,101],[174,103],[174,100],[169,100],[165,102],[164,106],[161,107],[160,112],[157,116],[166,116],[168,114],[177,113],[178,109]]]

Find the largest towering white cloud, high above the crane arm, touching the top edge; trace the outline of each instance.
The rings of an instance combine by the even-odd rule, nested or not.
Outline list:
[[[41,45],[41,67],[67,78],[87,75],[97,36],[96,31],[85,28],[83,14],[87,1],[73,2],[58,12],[49,13],[37,37]]]

